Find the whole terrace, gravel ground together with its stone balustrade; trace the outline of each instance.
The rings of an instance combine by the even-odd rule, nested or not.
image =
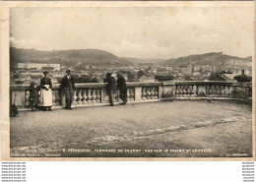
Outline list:
[[[225,157],[252,155],[251,84],[128,83],[108,107],[104,84],[77,84],[74,110],[53,87],[52,112],[30,112],[28,87],[11,87],[12,156]],[[239,103],[237,103],[237,101]]]

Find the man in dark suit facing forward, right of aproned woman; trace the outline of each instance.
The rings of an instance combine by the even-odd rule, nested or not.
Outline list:
[[[75,90],[75,82],[74,82],[74,78],[71,76],[71,71],[67,70],[66,73],[67,75],[62,78],[60,90],[64,91],[65,93],[65,97],[66,97],[65,109],[71,110],[72,98]]]

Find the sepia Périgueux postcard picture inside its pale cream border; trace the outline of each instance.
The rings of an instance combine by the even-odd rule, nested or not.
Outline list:
[[[9,9],[10,158],[255,158],[252,3],[150,5]]]

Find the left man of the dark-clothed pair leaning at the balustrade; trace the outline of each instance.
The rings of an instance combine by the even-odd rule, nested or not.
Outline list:
[[[106,78],[103,81],[106,83],[106,91],[109,96],[109,102],[111,106],[114,106],[113,94],[116,90],[116,80],[111,76],[111,73],[106,74]]]

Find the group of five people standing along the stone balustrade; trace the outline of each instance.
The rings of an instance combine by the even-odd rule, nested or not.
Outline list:
[[[125,78],[121,74],[117,74],[117,79],[112,76],[111,73],[106,74],[106,78],[103,81],[106,83],[106,91],[109,96],[109,102],[111,106],[114,106],[113,94],[114,91],[119,91],[119,96],[123,100],[122,104],[127,103],[127,87]],[[65,94],[65,109],[71,110],[73,93],[75,90],[75,81],[71,76],[71,71],[67,70],[66,75],[62,78],[60,90]],[[40,102],[38,102],[38,91],[40,92]],[[43,78],[40,80],[40,85],[32,82],[30,87],[30,102],[32,111],[36,111],[40,108],[43,111],[51,111],[52,107],[52,82],[48,78],[48,72],[43,72]]]

